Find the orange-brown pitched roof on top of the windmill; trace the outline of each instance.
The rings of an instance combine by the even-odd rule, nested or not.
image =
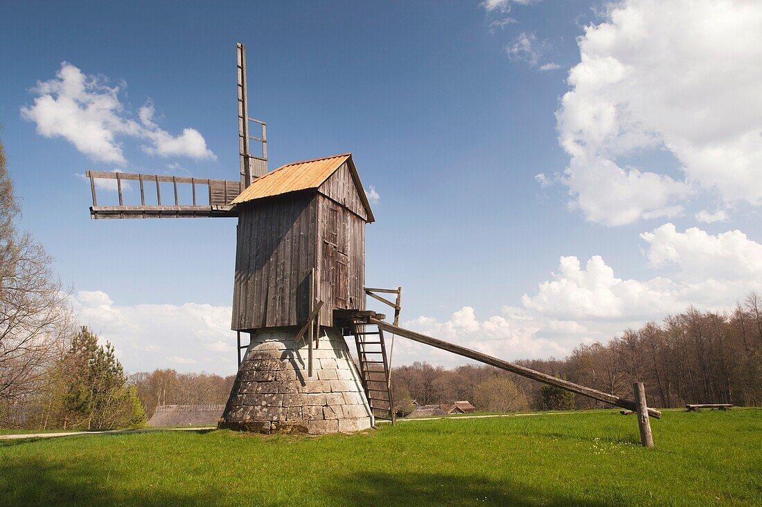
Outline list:
[[[373,222],[373,212],[370,211],[370,203],[363,190],[357,169],[354,167],[351,153],[342,153],[331,157],[313,158],[312,160],[293,162],[278,167],[275,171],[258,177],[251,185],[230,202],[231,205],[250,202],[264,197],[280,196],[286,193],[299,192],[299,190],[316,189],[320,187],[331,174],[347,162],[360,199],[368,213],[368,222]]]

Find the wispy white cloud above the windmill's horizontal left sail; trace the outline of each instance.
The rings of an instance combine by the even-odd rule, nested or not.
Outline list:
[[[186,128],[172,136],[159,128],[150,102],[140,108],[140,121],[132,120],[119,99],[124,86],[109,86],[107,78],[85,75],[62,62],[56,78],[33,88],[37,97],[33,105],[21,107],[21,117],[34,122],[40,135],[62,137],[95,161],[126,164],[120,136],[148,140],[142,149],[152,155],[216,158],[197,130]]]

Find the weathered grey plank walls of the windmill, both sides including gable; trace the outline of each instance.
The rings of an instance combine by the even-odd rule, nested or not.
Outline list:
[[[232,328],[302,326],[315,268],[318,319],[335,309],[365,308],[367,211],[347,164],[321,187],[257,199],[239,211]]]

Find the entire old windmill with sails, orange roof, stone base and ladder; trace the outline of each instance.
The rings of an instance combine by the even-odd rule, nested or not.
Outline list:
[[[393,419],[383,332],[366,330],[373,312],[364,311],[365,225],[374,218],[352,155],[295,162],[268,173],[266,126],[247,113],[242,44],[238,76],[240,182],[88,171],[91,218],[238,217],[231,327],[239,336],[248,333],[250,343],[239,356],[220,427],[367,429],[374,422],[369,390],[386,391],[386,412]],[[261,137],[249,135],[251,122],[261,126]],[[261,143],[261,156],[250,154],[250,140]],[[98,178],[117,180],[119,206],[98,206]],[[123,180],[139,182],[139,206],[123,202]],[[173,184],[174,204],[162,203],[161,183]],[[187,184],[193,202],[181,204],[178,185]],[[146,203],[154,185],[155,206]],[[359,369],[344,340],[347,329],[357,341]],[[368,340],[370,334],[378,340]],[[380,350],[367,348],[373,344]],[[383,368],[363,368],[363,362]]]

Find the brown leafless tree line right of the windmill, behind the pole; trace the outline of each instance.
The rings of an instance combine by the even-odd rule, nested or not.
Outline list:
[[[580,345],[565,359],[517,363],[631,399],[632,384],[644,382],[652,407],[686,403],[759,406],[762,298],[752,292],[730,314],[687,308],[661,323],[626,330],[607,343]],[[419,404],[470,400],[478,410],[604,407],[604,403],[581,396],[571,403],[543,384],[488,365],[445,369],[414,362],[393,368],[392,387],[402,413],[414,408],[414,400]],[[513,403],[502,399],[511,393]]]

